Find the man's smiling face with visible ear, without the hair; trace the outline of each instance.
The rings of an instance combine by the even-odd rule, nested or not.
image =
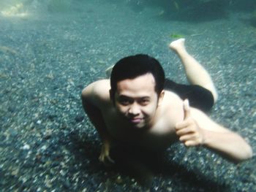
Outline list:
[[[159,101],[152,74],[143,74],[135,79],[121,80],[114,94],[116,109],[135,128],[148,128],[154,122]]]

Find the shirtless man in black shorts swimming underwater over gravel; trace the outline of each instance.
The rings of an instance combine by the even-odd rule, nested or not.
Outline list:
[[[236,162],[251,158],[252,148],[241,136],[206,115],[217,101],[217,91],[206,69],[187,53],[184,39],[170,43],[170,48],[181,58],[192,85],[165,80],[156,59],[134,55],[113,66],[110,80],[83,89],[84,110],[102,139],[99,161],[114,163],[114,146],[154,152],[178,140]]]

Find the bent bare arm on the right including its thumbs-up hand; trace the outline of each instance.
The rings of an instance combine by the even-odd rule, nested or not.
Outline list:
[[[238,134],[208,118],[200,110],[190,109],[184,101],[184,121],[177,123],[176,134],[186,146],[203,145],[233,161],[252,157],[252,148]]]

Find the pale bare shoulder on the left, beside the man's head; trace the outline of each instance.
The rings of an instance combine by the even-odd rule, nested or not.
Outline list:
[[[109,101],[110,80],[97,80],[82,91],[82,98],[90,101]]]

